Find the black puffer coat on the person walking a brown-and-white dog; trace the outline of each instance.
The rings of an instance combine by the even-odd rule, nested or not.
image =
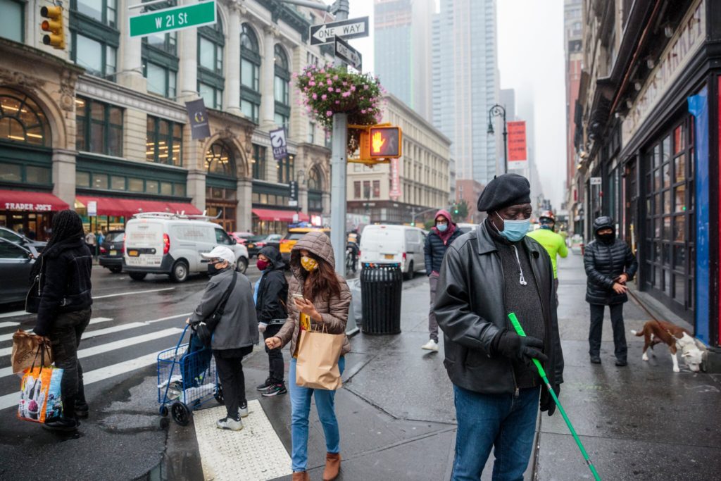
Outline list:
[[[586,302],[610,306],[629,300],[627,294],[616,294],[612,288],[619,275],[626,274],[631,281],[638,270],[636,256],[626,242],[614,239],[606,244],[596,239],[585,248],[583,255],[588,282]]]

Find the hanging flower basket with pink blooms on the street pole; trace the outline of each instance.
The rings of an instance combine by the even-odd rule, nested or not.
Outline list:
[[[353,74],[332,65],[309,65],[296,76],[303,105],[308,114],[327,131],[333,128],[333,115],[348,114],[348,125],[373,125],[382,118],[384,89],[369,74]],[[350,130],[348,151],[358,148],[358,131]]]

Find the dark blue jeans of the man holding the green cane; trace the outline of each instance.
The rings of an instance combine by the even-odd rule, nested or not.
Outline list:
[[[479,394],[454,385],[456,397],[456,459],[453,481],[478,481],[491,447],[493,481],[523,480],[539,412],[539,387],[513,394]]]

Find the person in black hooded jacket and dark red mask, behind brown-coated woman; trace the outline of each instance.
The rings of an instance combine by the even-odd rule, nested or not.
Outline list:
[[[258,316],[258,330],[265,340],[277,335],[288,318],[288,281],[286,264],[276,247],[269,245],[258,252],[257,268],[262,275],[255,284],[255,312]],[[268,354],[270,374],[257,389],[265,397],[286,394],[288,390],[283,380],[283,351],[280,348],[269,349],[266,345],[265,352]]]

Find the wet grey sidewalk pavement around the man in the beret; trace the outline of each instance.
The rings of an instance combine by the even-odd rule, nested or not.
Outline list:
[[[629,366],[614,366],[610,322],[604,325],[601,365],[588,362],[588,304],[580,255],[559,261],[559,327],[565,355],[560,400],[603,480],[709,480],[721,468],[721,376],[673,373],[660,345],[641,360],[642,338],[630,335],[649,317],[635,301],[624,306]],[[447,480],[456,418],[443,350],[428,353],[428,282],[404,285],[402,334],[351,340],[345,386],[337,392],[343,480]],[[606,311],[606,319],[608,319]],[[288,361],[286,351],[286,363]],[[247,394],[267,376],[267,357],[244,363]],[[288,396],[260,398],[275,432],[291,450]],[[539,416],[538,442],[526,480],[592,479],[562,417]],[[482,480],[490,480],[492,455]],[[322,428],[311,409],[309,470],[325,462]],[[290,480],[290,476],[278,478]]]

